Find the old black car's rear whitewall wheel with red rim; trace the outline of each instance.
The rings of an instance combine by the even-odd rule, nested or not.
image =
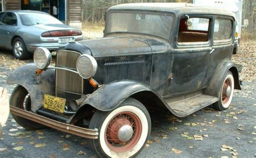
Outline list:
[[[213,107],[219,111],[223,111],[230,106],[234,94],[234,78],[231,71],[228,71],[224,75],[219,93],[219,101],[214,102]]]

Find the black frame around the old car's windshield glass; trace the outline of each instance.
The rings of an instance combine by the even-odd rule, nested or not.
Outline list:
[[[171,16],[172,17],[172,24],[171,24],[171,27],[169,30],[169,36],[168,38],[165,38],[165,37],[161,37],[161,36],[157,36],[157,35],[152,35],[152,34],[149,34],[149,33],[139,33],[139,32],[106,32],[107,29],[109,29],[109,18],[110,18],[110,14],[111,13],[145,13],[145,14],[150,14],[150,15],[164,15],[164,16]],[[147,36],[153,36],[153,37],[158,37],[158,38],[162,38],[162,39],[165,39],[167,40],[168,42],[171,41],[171,35],[172,35],[172,28],[174,28],[174,24],[176,22],[176,19],[175,19],[175,16],[173,14],[173,12],[166,12],[166,11],[151,11],[151,10],[134,10],[134,9],[131,9],[131,10],[110,10],[107,12],[107,15],[106,15],[106,22],[105,22],[105,30],[104,30],[104,37],[107,36],[107,35],[114,35],[114,34],[119,34],[119,33],[124,33],[124,34],[133,34],[133,35],[147,35]]]

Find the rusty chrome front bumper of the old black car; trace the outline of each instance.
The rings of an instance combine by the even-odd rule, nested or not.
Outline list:
[[[32,112],[24,111],[23,109],[20,109],[14,106],[10,106],[10,112],[13,115],[20,116],[24,119],[37,122],[44,126],[48,126],[48,127],[60,130],[62,132],[81,136],[83,138],[98,139],[98,129],[87,129],[87,128],[70,125],[68,123],[58,122]]]

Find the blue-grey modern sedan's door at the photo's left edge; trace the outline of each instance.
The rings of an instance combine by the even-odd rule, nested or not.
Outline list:
[[[11,39],[17,30],[17,16],[15,13],[6,12],[0,25],[0,39],[2,39],[2,47],[11,49]]]

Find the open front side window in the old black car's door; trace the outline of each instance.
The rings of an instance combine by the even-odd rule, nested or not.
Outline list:
[[[179,23],[178,42],[207,42],[210,19],[190,18],[192,25],[186,25],[187,18],[182,18]]]

